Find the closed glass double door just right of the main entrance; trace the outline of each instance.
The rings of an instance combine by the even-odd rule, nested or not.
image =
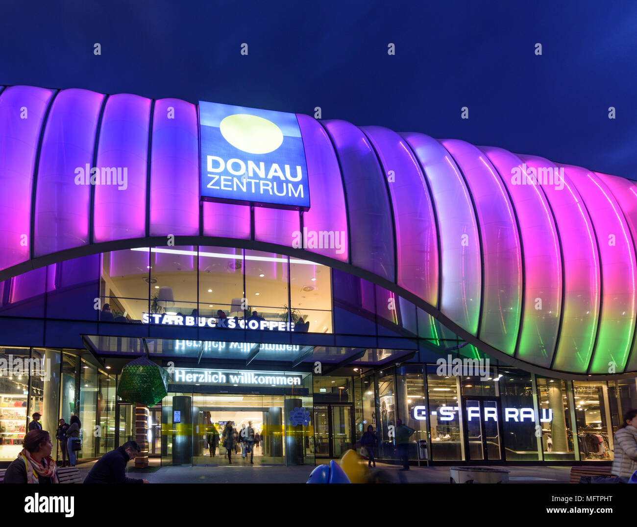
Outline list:
[[[314,406],[314,444],[316,457],[340,458],[356,441],[354,407],[351,404]]]

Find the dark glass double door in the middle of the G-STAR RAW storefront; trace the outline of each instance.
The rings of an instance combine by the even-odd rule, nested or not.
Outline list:
[[[467,460],[503,460],[499,402],[485,397],[468,397],[464,400],[463,419],[467,431]]]

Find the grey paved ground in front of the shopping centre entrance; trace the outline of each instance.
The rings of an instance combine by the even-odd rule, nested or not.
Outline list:
[[[78,468],[89,471],[94,462]],[[129,465],[128,477],[145,478],[151,483],[305,483],[313,467],[272,467],[233,462],[208,467],[152,467],[148,472],[136,472]],[[501,467],[510,471],[510,483],[568,483],[569,467]],[[396,465],[377,463],[387,478],[404,483],[448,483],[449,467],[411,467],[400,472]]]

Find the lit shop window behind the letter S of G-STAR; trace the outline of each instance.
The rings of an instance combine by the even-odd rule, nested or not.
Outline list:
[[[429,390],[429,430],[434,461],[461,460],[462,434],[457,379],[439,376],[436,367],[427,368]]]

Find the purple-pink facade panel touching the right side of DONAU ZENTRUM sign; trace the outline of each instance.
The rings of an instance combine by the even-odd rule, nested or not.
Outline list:
[[[308,233],[333,232],[335,241],[337,234],[339,241],[338,246],[334,243],[334,248],[308,247],[307,250],[347,262],[345,195],[332,143],[316,119],[300,113],[296,114],[296,118],[303,137],[312,197],[310,210],[303,213],[303,227]]]

